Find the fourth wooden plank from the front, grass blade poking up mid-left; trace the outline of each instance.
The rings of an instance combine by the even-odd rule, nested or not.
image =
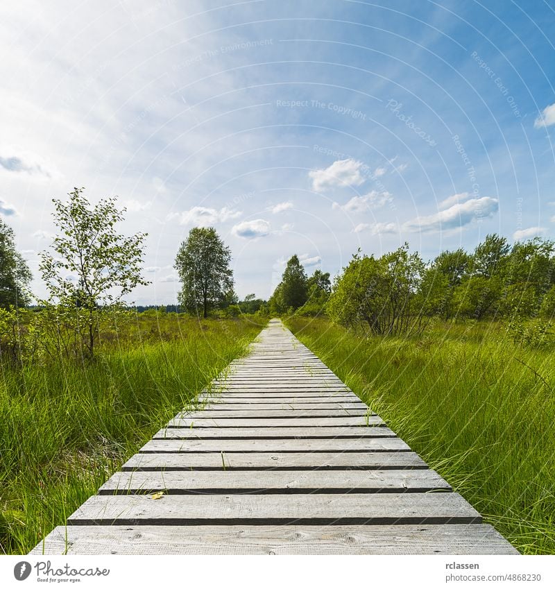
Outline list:
[[[384,470],[427,468],[414,452],[185,452],[135,454],[121,470]]]

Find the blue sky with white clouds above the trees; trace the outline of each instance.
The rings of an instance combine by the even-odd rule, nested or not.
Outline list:
[[[293,253],[555,237],[553,3],[22,1],[0,31],[0,214],[39,296],[74,186],[149,233],[138,303],[176,300],[195,225],[262,297]]]

